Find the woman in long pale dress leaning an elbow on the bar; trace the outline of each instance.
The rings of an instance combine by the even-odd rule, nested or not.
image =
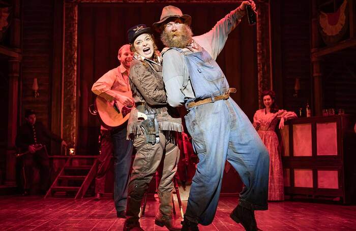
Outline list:
[[[283,129],[284,122],[296,118],[294,112],[278,110],[275,104],[276,94],[272,90],[263,91],[264,108],[257,110],[253,117],[253,126],[261,137],[270,153],[269,201],[284,200],[283,168],[278,138],[275,133],[279,121],[279,129]]]

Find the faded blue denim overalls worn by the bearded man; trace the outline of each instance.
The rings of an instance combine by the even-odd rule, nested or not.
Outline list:
[[[214,99],[229,89],[223,72],[208,52],[172,49],[183,54],[187,65],[196,96],[188,103],[207,97]],[[199,157],[185,217],[203,225],[212,223],[226,159],[245,185],[239,204],[252,210],[266,210],[269,154],[250,120],[232,98],[193,107],[185,120]]]

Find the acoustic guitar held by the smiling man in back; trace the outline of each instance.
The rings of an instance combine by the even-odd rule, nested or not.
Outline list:
[[[131,91],[120,92],[127,97],[132,97]],[[125,123],[130,117],[130,111],[134,107],[122,105],[118,101],[107,101],[105,98],[97,96],[95,100],[95,108],[99,114],[101,122],[110,127],[117,127]]]

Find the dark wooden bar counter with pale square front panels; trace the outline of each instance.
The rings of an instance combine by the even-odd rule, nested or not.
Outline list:
[[[281,131],[285,192],[355,202],[355,117],[297,118]]]

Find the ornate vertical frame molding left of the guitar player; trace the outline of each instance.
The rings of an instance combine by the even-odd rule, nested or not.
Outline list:
[[[63,75],[63,139],[69,146],[77,138],[77,38],[78,4],[65,3],[65,47]]]

